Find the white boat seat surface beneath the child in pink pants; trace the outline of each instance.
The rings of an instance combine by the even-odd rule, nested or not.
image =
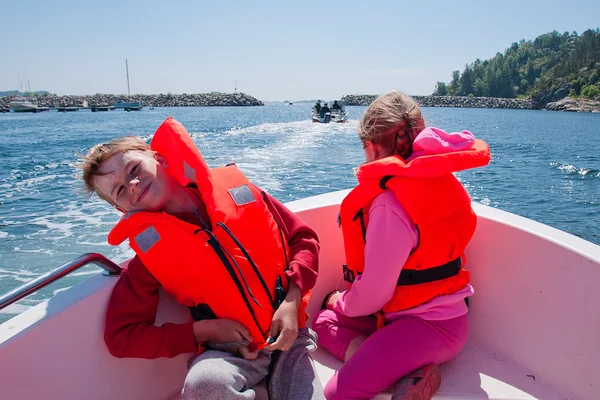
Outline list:
[[[326,350],[313,353],[317,373],[325,384],[342,365]],[[528,372],[504,361],[501,356],[467,346],[454,360],[440,366],[442,386],[433,397],[438,400],[490,399],[529,400],[564,399],[543,387]],[[376,400],[390,399],[391,389]]]

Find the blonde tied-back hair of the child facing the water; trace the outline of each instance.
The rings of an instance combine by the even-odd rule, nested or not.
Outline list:
[[[407,159],[412,154],[413,141],[423,129],[425,121],[415,99],[389,92],[367,108],[358,123],[358,137],[363,145],[371,141]]]

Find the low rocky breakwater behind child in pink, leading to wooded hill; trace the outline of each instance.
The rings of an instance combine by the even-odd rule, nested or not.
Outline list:
[[[497,97],[467,96],[412,96],[421,107],[461,107],[461,108],[514,108],[534,109],[535,103],[527,99],[502,99]],[[368,106],[376,95],[346,95],[341,98],[345,105]]]

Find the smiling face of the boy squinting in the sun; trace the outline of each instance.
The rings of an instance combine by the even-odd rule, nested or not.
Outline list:
[[[93,183],[120,211],[161,211],[174,184],[166,167],[163,157],[149,151],[117,153],[103,163],[100,171],[105,175],[95,176]]]

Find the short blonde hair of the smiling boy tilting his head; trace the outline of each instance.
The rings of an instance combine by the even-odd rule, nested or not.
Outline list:
[[[138,151],[151,151],[150,146],[144,142],[144,140],[137,136],[125,136],[118,139],[113,139],[108,143],[97,144],[92,147],[88,153],[84,156],[79,154],[80,163],[77,165],[81,169],[84,184],[84,189],[88,194],[96,193],[102,200],[109,202],[112,205],[116,205],[113,201],[104,196],[100,191],[97,190],[94,185],[95,176],[103,176],[106,173],[100,171],[102,164],[118,153],[125,153],[127,151],[138,150]]]

